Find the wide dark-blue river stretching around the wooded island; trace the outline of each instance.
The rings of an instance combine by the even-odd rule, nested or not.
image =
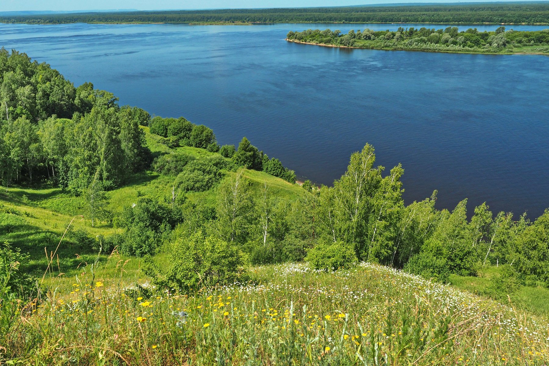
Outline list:
[[[386,171],[404,166],[407,203],[438,189],[439,208],[469,198],[470,210],[486,201],[494,211],[541,215],[549,207],[549,57],[284,41],[290,30],[399,26],[421,27],[0,24],[0,47],[46,61],[75,85],[91,81],[121,104],[203,123],[221,144],[247,136],[317,183],[341,176],[368,142]]]

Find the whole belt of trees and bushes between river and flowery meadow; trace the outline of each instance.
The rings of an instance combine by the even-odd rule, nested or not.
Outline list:
[[[258,188],[245,178],[248,168],[295,179],[246,138],[238,149],[220,147],[205,126],[183,118],[150,119],[141,109],[118,106],[112,94],[89,83],[75,88],[48,65],[15,51],[0,52],[0,71],[3,184],[45,182],[85,195],[92,219],[107,219],[124,230],[95,239],[84,233],[78,240],[102,252],[117,248],[148,257],[146,271],[161,286],[193,288],[197,278],[185,277],[181,268],[222,281],[223,273],[233,280],[234,271],[219,263],[234,269],[302,260],[329,270],[376,262],[440,281],[451,273],[474,275],[483,266],[505,266],[508,282],[502,285],[549,285],[549,211],[530,221],[526,215],[492,213],[483,204],[469,220],[467,200],[451,211],[437,210],[436,192],[405,205],[404,169],[397,165],[386,172],[376,166],[369,144],[351,155],[332,187],[305,182],[302,194],[284,198],[267,182]],[[174,152],[153,160],[139,125],[149,125],[161,143],[211,154]],[[122,212],[105,212],[105,190],[149,167],[173,182],[171,195],[142,197]],[[206,190],[213,190],[213,199],[187,199],[189,192]],[[172,249],[169,266],[150,257],[165,245]],[[200,266],[206,261],[199,258],[209,255],[219,263],[204,272]]]

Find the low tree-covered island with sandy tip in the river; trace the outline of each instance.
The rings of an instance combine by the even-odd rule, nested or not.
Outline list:
[[[541,31],[506,31],[498,27],[493,32],[479,32],[476,28],[458,31],[457,27],[428,29],[422,27],[399,27],[396,32],[350,30],[342,34],[339,30],[290,31],[287,41],[317,44],[330,47],[352,47],[369,49],[416,50],[429,52],[457,53],[536,53],[549,54],[549,29]]]

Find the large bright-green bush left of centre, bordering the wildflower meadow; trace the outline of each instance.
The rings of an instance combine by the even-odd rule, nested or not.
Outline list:
[[[249,279],[244,256],[236,246],[201,233],[176,240],[169,262],[165,271],[150,260],[144,267],[145,274],[161,289],[188,293],[203,286]]]

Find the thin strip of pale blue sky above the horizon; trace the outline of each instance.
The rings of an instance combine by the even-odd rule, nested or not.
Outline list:
[[[327,7],[380,3],[429,2],[428,0],[0,0],[0,12],[17,10],[105,10],[105,9],[227,9]],[[478,0],[477,0],[478,1]],[[431,0],[430,2],[457,2]]]

